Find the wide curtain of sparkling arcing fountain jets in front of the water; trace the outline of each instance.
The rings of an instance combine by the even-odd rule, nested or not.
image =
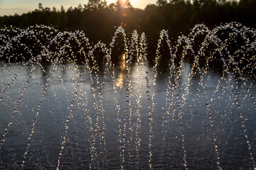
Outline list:
[[[0,33],[2,169],[256,169],[255,29]]]

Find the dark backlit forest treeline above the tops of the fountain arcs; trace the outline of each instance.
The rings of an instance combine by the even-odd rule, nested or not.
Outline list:
[[[171,37],[187,34],[198,23],[209,28],[220,23],[236,21],[255,28],[256,1],[240,0],[158,0],[146,8],[134,8],[129,1],[117,0],[107,5],[105,0],[88,0],[87,4],[68,9],[43,7],[22,15],[1,16],[0,28],[15,26],[27,28],[36,24],[53,26],[58,30],[83,30],[87,38],[96,42],[109,42],[114,28],[123,26],[127,33],[136,29],[156,39],[162,29],[168,29]]]

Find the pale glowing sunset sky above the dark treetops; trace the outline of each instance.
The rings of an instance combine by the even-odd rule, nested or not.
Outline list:
[[[107,0],[110,4],[116,0]],[[132,6],[136,8],[145,8],[147,4],[154,4],[156,0],[130,0]],[[0,16],[14,15],[14,13],[22,14],[33,11],[38,8],[38,4],[42,3],[43,7],[60,8],[63,5],[65,9],[70,6],[78,6],[78,4],[87,4],[87,0],[0,0]]]

